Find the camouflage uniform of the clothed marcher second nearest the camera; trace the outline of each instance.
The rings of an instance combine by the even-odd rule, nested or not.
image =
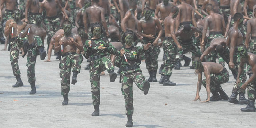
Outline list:
[[[91,47],[89,45],[91,41]],[[98,47],[106,47],[105,50],[99,50]],[[114,70],[114,66],[107,56],[107,52],[110,54],[116,54],[117,50],[110,44],[110,42],[104,42],[101,38],[86,40],[84,44],[85,58],[90,57],[90,82],[92,93],[92,104],[100,105],[100,73],[107,69],[108,72]]]

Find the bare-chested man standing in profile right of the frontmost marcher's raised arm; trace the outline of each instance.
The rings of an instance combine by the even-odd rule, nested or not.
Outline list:
[[[177,54],[177,48],[182,50],[182,46],[178,42],[175,35],[175,24],[176,17],[179,13],[179,8],[173,6],[171,8],[170,15],[165,18],[165,39],[163,41],[163,46],[165,47],[166,60],[163,64],[163,69],[161,73],[161,79],[159,80],[160,84],[164,86],[174,86],[176,83],[170,81],[170,77],[172,75],[172,69],[175,66],[175,56]]]

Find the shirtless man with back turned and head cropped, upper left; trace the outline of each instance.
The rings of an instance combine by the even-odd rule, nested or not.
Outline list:
[[[47,36],[48,36],[48,38],[47,38],[47,44],[48,44],[47,49],[49,49],[51,38],[53,37],[55,32],[57,30],[59,30],[59,27],[60,27],[60,18],[57,15],[58,14],[57,7],[59,9],[61,9],[62,13],[64,13],[64,15],[65,15],[65,19],[67,20],[68,16],[67,16],[64,8],[61,7],[61,4],[60,4],[59,0],[44,0],[40,4],[39,13],[42,14],[42,12],[44,10],[46,11],[46,17],[44,19],[44,23],[46,25],[46,31],[47,31]]]

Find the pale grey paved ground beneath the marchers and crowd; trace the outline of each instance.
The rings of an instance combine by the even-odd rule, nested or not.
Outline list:
[[[3,49],[3,45],[0,45]],[[163,53],[159,55],[158,64],[162,64]],[[190,56],[188,54],[187,56]],[[88,64],[82,62],[78,82],[71,85],[68,106],[62,106],[60,94],[59,61],[52,56],[52,62],[44,62],[37,57],[36,87],[37,94],[29,95],[31,90],[27,82],[26,59],[20,56],[19,68],[24,86],[12,88],[16,79],[12,74],[9,52],[0,51],[0,124],[1,128],[124,128],[124,98],[121,93],[119,76],[116,82],[101,76],[100,116],[92,117],[91,83],[89,71],[84,70]],[[184,62],[182,62],[184,64]],[[145,62],[141,68],[146,78],[149,74]],[[117,71],[117,68],[116,68]],[[230,71],[229,71],[230,72]],[[230,72],[230,75],[232,73]],[[160,75],[157,74],[157,79]],[[197,76],[189,67],[173,70],[171,77],[177,86],[162,86],[151,82],[148,95],[143,95],[134,86],[135,128],[211,128],[211,127],[255,127],[255,113],[241,112],[245,105],[235,105],[227,101],[201,103],[192,102],[196,94]],[[235,80],[230,76],[229,82],[222,85],[228,96],[231,95]],[[201,99],[207,98],[205,88],[201,88]],[[247,97],[247,96],[246,96]]]

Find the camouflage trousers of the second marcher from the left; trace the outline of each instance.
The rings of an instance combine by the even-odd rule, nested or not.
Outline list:
[[[35,64],[37,60],[37,55],[39,55],[39,48],[43,47],[44,44],[39,36],[34,37],[34,43],[28,46],[27,50],[27,78],[29,83],[35,83]]]

